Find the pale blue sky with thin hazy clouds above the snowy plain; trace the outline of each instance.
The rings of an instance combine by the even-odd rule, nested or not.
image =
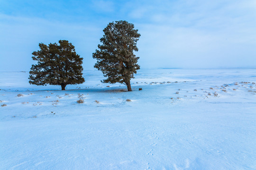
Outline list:
[[[59,40],[94,69],[119,20],[141,34],[141,68],[256,68],[256,0],[0,0],[0,71],[28,71],[38,44]]]

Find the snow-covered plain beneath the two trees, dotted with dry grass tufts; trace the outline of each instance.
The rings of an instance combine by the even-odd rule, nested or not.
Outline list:
[[[133,92],[27,77],[0,72],[1,170],[256,170],[256,69],[141,69]]]

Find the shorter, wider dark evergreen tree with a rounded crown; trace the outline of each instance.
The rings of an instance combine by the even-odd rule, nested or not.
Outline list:
[[[82,58],[76,54],[72,43],[60,40],[59,45],[39,43],[39,47],[40,51],[32,53],[37,64],[30,68],[29,84],[61,85],[61,90],[65,90],[66,85],[84,82]]]

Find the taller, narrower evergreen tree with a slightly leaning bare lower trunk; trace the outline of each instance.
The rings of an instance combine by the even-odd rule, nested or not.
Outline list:
[[[140,37],[134,25],[127,21],[109,23],[103,30],[104,35],[100,39],[102,44],[99,50],[92,54],[97,59],[94,68],[101,70],[107,79],[103,83],[122,83],[127,85],[128,91],[132,91],[130,79],[134,78],[139,65],[133,51],[138,51],[137,41]]]

